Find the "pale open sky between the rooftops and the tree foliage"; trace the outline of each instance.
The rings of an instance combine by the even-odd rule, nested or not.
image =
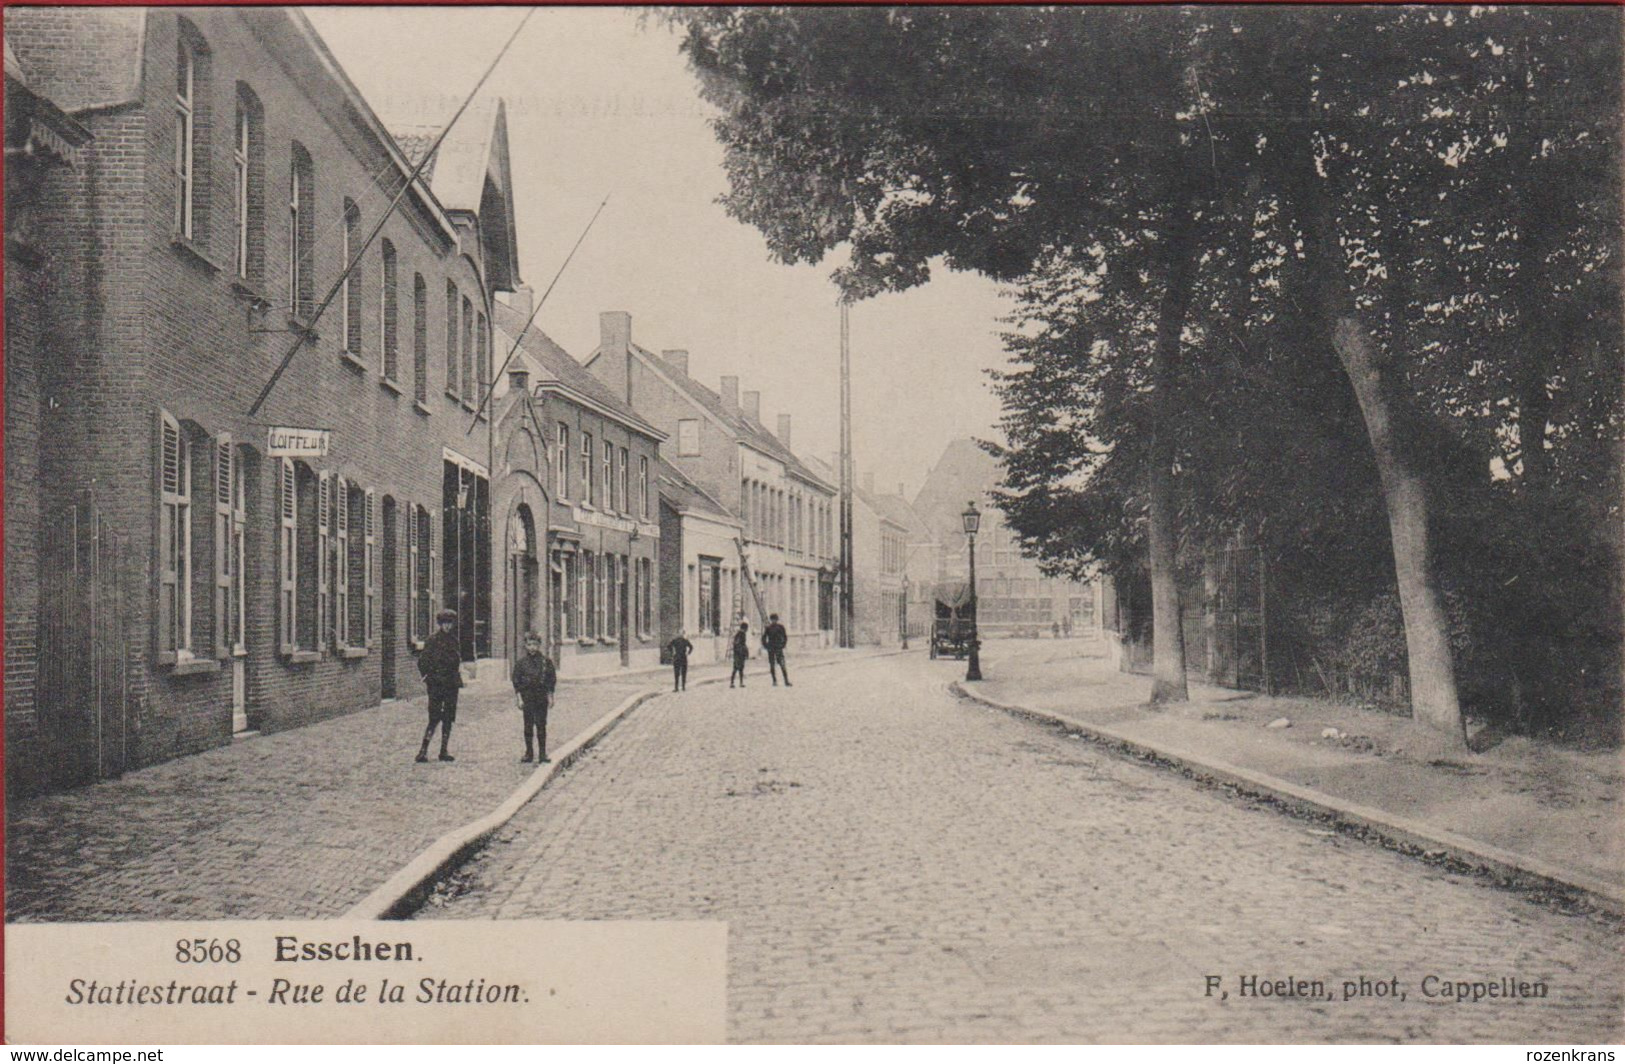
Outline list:
[[[387,125],[440,125],[523,8],[307,8]],[[632,315],[634,343],[689,351],[717,388],[762,393],[791,416],[798,452],[840,440],[840,312],[827,260],[772,262],[728,218],[722,148],[678,37],[626,8],[538,8],[481,97],[507,101],[520,275],[538,297],[593,211],[609,205],[536,317],[585,359],[598,315]],[[838,253],[838,252],[837,252]],[[998,286],[936,270],[930,284],[852,309],[853,455],[860,478],[912,499],[951,439],[994,435],[988,367],[1004,364]],[[505,354],[505,353],[504,353]]]

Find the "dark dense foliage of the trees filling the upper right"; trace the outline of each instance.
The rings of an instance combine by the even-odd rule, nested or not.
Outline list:
[[[1001,505],[1051,567],[1133,570],[1172,461],[1186,554],[1242,534],[1287,606],[1383,614],[1404,474],[1500,708],[1617,707],[1617,10],[671,18],[722,109],[725,205],[777,257],[848,245],[858,297],[938,257],[1014,284]],[[1339,328],[1383,375],[1380,426]]]

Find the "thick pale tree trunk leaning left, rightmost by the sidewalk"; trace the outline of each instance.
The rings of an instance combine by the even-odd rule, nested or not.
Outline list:
[[[1427,482],[1412,468],[1406,440],[1396,429],[1402,419],[1402,400],[1394,398],[1393,372],[1384,365],[1370,331],[1352,314],[1332,318],[1332,346],[1360,401],[1383,484],[1383,502],[1388,505],[1399,609],[1406,624],[1410,713],[1428,728],[1466,744],[1456,699],[1456,664],[1450,653],[1450,622],[1433,578]]]

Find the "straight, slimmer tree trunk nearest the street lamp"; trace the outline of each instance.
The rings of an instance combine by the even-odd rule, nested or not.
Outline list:
[[[1152,702],[1190,702],[1185,684],[1185,627],[1180,622],[1178,510],[1173,494],[1173,382],[1178,377],[1180,340],[1191,301],[1194,234],[1191,193],[1170,198],[1167,281],[1157,314],[1157,343],[1152,349],[1152,439],[1147,471],[1146,538],[1150,552]]]

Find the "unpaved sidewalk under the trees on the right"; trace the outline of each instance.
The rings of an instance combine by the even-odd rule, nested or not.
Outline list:
[[[1150,679],[1120,673],[1103,645],[1086,640],[990,642],[983,663],[986,679],[959,684],[960,694],[1035,710],[1428,856],[1573,887],[1599,906],[1625,910],[1625,767],[1617,750],[1508,737],[1479,754],[1440,754],[1407,718],[1199,684],[1190,703],[1150,708]],[[1271,726],[1280,720],[1290,724]]]

